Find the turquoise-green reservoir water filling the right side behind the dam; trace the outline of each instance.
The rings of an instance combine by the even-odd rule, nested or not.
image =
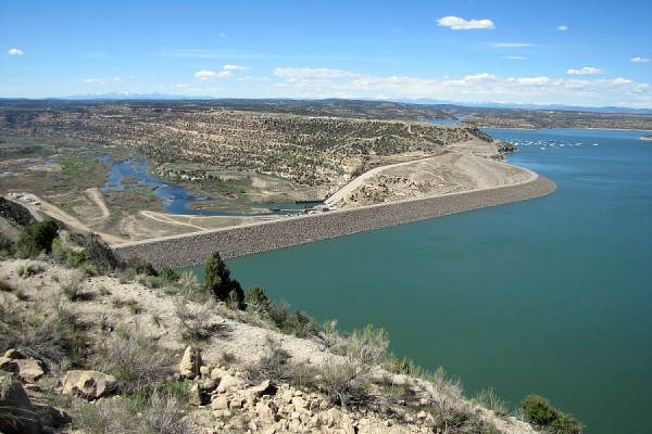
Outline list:
[[[393,352],[460,376],[467,396],[493,387],[516,406],[534,393],[586,433],[649,432],[652,142],[643,131],[486,131],[553,143],[519,145],[509,161],[557,191],[230,259],[231,276],[318,321],[385,328]]]

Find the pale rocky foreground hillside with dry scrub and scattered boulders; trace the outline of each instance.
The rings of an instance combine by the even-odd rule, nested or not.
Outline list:
[[[491,394],[467,400],[388,357],[381,330],[343,336],[286,307],[217,305],[188,277],[43,259],[0,263],[4,433],[535,432]]]

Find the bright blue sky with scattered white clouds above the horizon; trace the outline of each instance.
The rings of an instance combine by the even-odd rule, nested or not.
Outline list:
[[[649,0],[0,0],[0,97],[652,107]]]

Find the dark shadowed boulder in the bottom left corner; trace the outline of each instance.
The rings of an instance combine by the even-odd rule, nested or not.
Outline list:
[[[2,379],[0,383],[0,433],[37,434],[40,423],[23,385],[12,379]]]

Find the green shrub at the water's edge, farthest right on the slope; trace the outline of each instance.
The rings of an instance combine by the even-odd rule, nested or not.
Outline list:
[[[521,403],[525,420],[534,425],[548,429],[559,434],[580,434],[586,425],[564,413],[539,395],[528,395]]]

